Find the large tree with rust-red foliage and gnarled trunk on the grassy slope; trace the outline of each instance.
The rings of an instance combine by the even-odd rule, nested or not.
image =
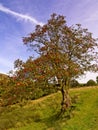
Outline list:
[[[37,80],[56,77],[62,93],[61,112],[65,112],[71,106],[71,79],[85,71],[97,70],[96,39],[80,24],[68,27],[64,16],[52,14],[47,24],[37,25],[23,42],[39,54],[34,60]]]

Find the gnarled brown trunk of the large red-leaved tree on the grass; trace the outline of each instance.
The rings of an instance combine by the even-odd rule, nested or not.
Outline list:
[[[61,88],[62,102],[61,102],[61,113],[64,113],[71,106],[71,99],[67,89],[64,89],[64,86]]]

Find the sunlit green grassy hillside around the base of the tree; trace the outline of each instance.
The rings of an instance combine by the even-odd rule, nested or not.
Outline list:
[[[58,118],[61,94],[0,108],[0,130],[98,130],[98,87],[73,89],[78,102],[71,118]]]

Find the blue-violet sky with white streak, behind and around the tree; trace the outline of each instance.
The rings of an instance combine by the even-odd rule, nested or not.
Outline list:
[[[8,73],[13,63],[26,60],[34,52],[23,45],[22,37],[43,25],[52,13],[66,16],[67,24],[82,24],[98,37],[98,0],[0,0],[0,72]],[[86,82],[98,74],[87,73]]]

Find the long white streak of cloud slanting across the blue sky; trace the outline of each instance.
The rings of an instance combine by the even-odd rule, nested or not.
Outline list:
[[[16,17],[18,20],[19,20],[19,19],[22,19],[22,20],[29,21],[29,22],[31,22],[31,23],[33,23],[33,24],[36,24],[36,25],[41,25],[41,26],[44,25],[44,23],[39,22],[39,21],[36,20],[34,17],[31,17],[31,16],[26,15],[26,14],[17,13],[17,12],[15,12],[15,11],[12,11],[12,10],[10,10],[9,8],[3,6],[2,4],[0,4],[0,11],[4,12],[4,13],[6,13],[6,14],[12,15],[12,16]]]

